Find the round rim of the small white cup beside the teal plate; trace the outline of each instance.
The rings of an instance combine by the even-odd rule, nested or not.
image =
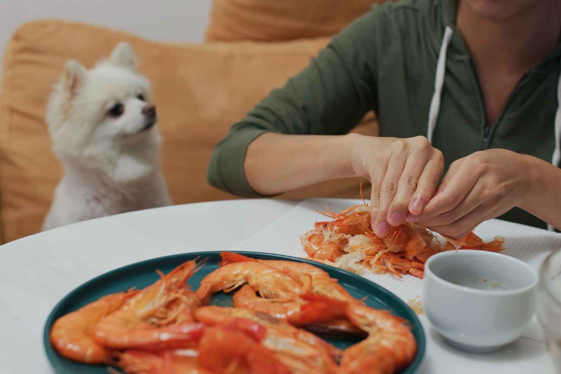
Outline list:
[[[471,288],[471,287],[466,287],[466,286],[462,286],[459,284],[455,284],[452,283],[448,280],[445,280],[443,278],[440,278],[440,276],[436,275],[433,273],[433,271],[430,269],[430,265],[432,262],[438,260],[441,257],[447,257],[447,256],[463,256],[463,255],[468,255],[468,254],[472,254],[472,255],[477,255],[477,256],[481,256],[481,257],[494,257],[494,258],[502,258],[501,261],[512,261],[512,262],[516,262],[518,265],[521,265],[522,267],[526,267],[527,270],[530,271],[530,273],[534,276],[534,279],[532,280],[532,282],[524,287],[520,287],[520,288],[516,288],[516,289],[511,289],[511,290],[485,290],[485,289],[477,289],[477,288]],[[519,260],[516,257],[512,257],[512,256],[508,256],[505,255],[503,253],[496,253],[496,252],[490,252],[490,251],[482,251],[482,250],[452,250],[452,251],[444,251],[444,252],[439,252],[436,253],[433,256],[430,256],[429,259],[426,261],[425,263],[425,273],[429,274],[432,276],[432,278],[437,281],[440,284],[446,285],[447,287],[450,287],[452,289],[456,289],[462,292],[467,292],[467,293],[472,293],[472,294],[478,294],[478,295],[488,295],[488,296],[509,296],[509,295],[514,295],[514,294],[519,294],[519,293],[524,293],[527,292],[528,290],[531,290],[532,288],[535,288],[537,286],[537,284],[539,283],[539,275],[537,274],[537,272],[532,269],[532,267],[528,264],[526,264],[526,262]],[[426,277],[425,277],[426,278]]]

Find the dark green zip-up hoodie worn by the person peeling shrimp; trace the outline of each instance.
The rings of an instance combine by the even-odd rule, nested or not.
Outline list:
[[[234,124],[213,151],[209,183],[236,195],[257,196],[245,178],[243,160],[247,146],[264,132],[342,135],[374,110],[380,136],[426,136],[445,26],[454,33],[433,135],[445,171],[454,160],[489,148],[551,161],[561,45],[526,73],[488,126],[476,71],[455,24],[456,0],[374,6]],[[518,208],[499,218],[546,227]]]

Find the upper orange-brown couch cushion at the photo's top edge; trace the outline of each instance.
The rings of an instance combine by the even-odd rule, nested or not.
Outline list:
[[[206,40],[292,40],[337,34],[385,0],[214,0]]]

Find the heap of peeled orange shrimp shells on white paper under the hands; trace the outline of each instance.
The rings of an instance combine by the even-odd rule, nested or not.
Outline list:
[[[496,236],[492,242],[484,243],[473,232],[459,241],[445,238],[447,242],[442,244],[425,227],[407,222],[398,227],[390,226],[388,236],[379,238],[372,229],[371,209],[364,198],[362,202],[341,213],[333,213],[329,207],[327,211],[318,212],[333,220],[316,222],[313,230],[300,237],[310,260],[355,273],[366,268],[390,271],[400,279],[402,274],[423,278],[425,262],[435,253],[456,249],[493,252],[504,249],[503,237]]]

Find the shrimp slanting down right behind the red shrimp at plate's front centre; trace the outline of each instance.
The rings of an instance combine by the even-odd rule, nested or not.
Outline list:
[[[195,317],[209,325],[224,324],[236,317],[259,322],[265,327],[265,336],[261,344],[272,350],[274,356],[295,374],[338,371],[333,360],[333,357],[339,357],[341,354],[337,348],[308,331],[297,329],[266,313],[243,308],[206,306],[197,309]]]

